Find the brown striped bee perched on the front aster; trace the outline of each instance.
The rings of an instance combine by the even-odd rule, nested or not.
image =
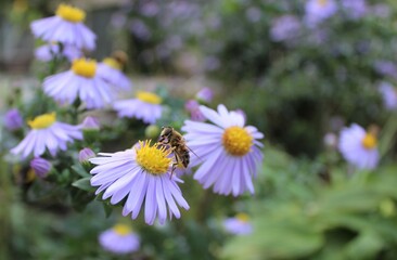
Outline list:
[[[171,177],[179,162],[182,164],[184,168],[188,167],[190,162],[189,151],[191,150],[187,146],[182,134],[171,127],[163,127],[162,132],[159,133],[158,143],[170,147],[174,152],[175,161],[172,162]]]

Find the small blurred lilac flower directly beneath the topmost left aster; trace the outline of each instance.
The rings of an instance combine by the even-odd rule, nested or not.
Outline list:
[[[35,50],[35,56],[42,62],[49,62],[55,56],[64,56],[72,62],[73,60],[82,56],[82,52],[75,46],[64,46],[61,52],[60,44],[48,43],[37,48]]]

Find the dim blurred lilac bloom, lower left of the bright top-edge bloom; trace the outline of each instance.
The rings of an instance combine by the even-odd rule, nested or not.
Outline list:
[[[295,39],[300,31],[299,20],[294,15],[283,15],[272,22],[270,38],[273,41],[290,41]]]

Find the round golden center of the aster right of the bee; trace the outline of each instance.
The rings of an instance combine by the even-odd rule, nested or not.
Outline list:
[[[244,128],[230,127],[223,132],[222,144],[229,154],[243,156],[251,151],[253,136]]]

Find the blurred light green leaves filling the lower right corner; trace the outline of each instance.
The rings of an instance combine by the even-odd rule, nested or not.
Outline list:
[[[265,168],[272,171],[278,162],[268,162]],[[222,256],[227,259],[394,259],[397,256],[396,171],[397,165],[393,165],[376,172],[357,171],[346,177],[335,169],[331,172],[331,184],[312,178],[306,193],[293,192],[302,188],[302,183],[287,182],[283,193],[293,194],[293,198],[268,196],[248,203],[254,232],[231,239]],[[271,174],[271,180],[285,180],[279,171]]]

